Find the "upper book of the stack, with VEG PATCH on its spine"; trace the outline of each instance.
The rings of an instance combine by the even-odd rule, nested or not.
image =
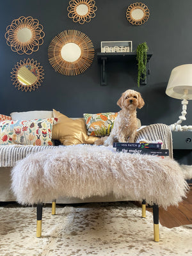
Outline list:
[[[123,143],[123,142],[114,142],[114,148],[157,148],[161,149],[161,143]]]

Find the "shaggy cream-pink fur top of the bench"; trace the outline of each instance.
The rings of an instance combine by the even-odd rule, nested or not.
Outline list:
[[[20,204],[113,192],[117,198],[145,199],[166,208],[182,201],[188,184],[179,164],[170,157],[74,145],[47,149],[18,161],[12,170],[12,190]]]

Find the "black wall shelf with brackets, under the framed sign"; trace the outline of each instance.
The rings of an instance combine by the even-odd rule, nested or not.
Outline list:
[[[147,63],[152,57],[152,53],[147,54]],[[100,85],[107,85],[107,71],[106,66],[108,61],[126,61],[132,62],[136,65],[136,52],[97,52],[97,61],[100,63]],[[147,75],[149,69],[147,68]],[[147,79],[142,85],[147,84]]]

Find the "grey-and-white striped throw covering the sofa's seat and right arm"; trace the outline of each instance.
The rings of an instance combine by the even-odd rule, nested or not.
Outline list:
[[[152,124],[142,128],[136,134],[136,141],[140,140],[156,141],[162,140],[163,147],[170,150],[170,157],[173,158],[172,132],[168,125]],[[40,152],[47,148],[56,148],[57,146],[31,146],[31,145],[7,145],[0,146],[0,167],[15,166],[16,161],[23,159],[28,154]]]

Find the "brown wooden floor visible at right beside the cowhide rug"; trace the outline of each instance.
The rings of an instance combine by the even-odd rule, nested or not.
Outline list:
[[[136,205],[141,205],[135,202]],[[147,206],[147,211],[152,212],[152,208]],[[146,212],[147,215],[147,212]],[[185,198],[178,207],[170,206],[167,211],[159,207],[159,222],[164,227],[173,228],[181,225],[192,225],[192,184],[188,197]]]

